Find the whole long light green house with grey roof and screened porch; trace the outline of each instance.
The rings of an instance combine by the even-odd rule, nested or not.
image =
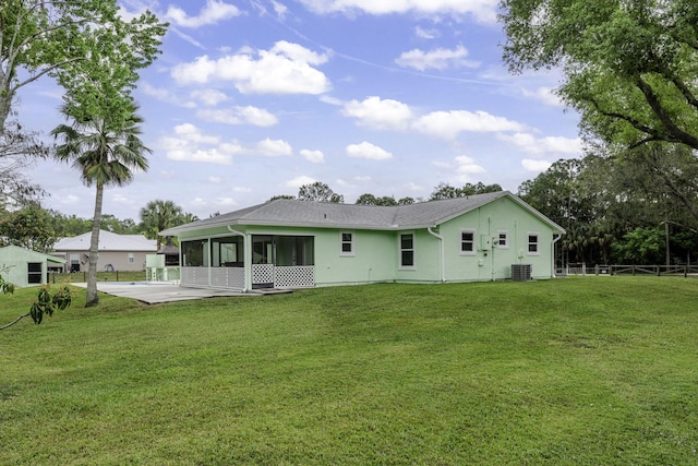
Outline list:
[[[160,235],[179,238],[182,286],[248,290],[506,279],[521,264],[550,278],[564,232],[503,191],[389,207],[276,200]]]

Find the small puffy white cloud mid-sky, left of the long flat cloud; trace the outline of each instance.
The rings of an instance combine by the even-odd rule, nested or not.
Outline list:
[[[406,104],[381,97],[368,97],[363,101],[351,100],[345,104],[341,112],[354,117],[359,124],[381,130],[404,130],[412,119],[412,110]]]

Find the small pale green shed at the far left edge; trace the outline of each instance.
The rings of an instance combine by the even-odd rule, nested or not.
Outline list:
[[[47,284],[48,271],[62,270],[64,263],[62,259],[19,246],[0,248],[0,275],[19,287]]]

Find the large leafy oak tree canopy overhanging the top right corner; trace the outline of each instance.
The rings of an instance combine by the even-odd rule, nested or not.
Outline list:
[[[592,139],[698,150],[698,2],[502,0],[513,72],[559,67]]]

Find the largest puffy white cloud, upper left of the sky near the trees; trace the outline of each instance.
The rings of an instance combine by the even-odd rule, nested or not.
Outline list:
[[[172,69],[179,84],[206,84],[230,81],[242,94],[324,94],[329,91],[327,76],[313,65],[325,63],[327,55],[316,53],[298,44],[277,41],[269,50],[254,57],[248,48],[237,55],[213,60],[198,57]]]

